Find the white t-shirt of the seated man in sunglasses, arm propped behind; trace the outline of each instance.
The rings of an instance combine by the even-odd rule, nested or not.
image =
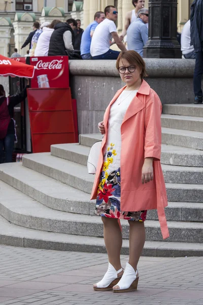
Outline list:
[[[106,18],[97,25],[90,45],[92,56],[98,56],[109,51],[112,32],[116,32],[116,24],[112,20]]]

